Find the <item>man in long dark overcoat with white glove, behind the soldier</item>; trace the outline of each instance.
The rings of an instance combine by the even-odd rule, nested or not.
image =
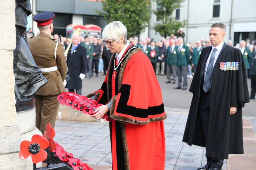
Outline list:
[[[67,56],[68,74],[70,80],[67,81],[69,92],[75,92],[82,95],[82,80],[85,78],[85,69],[87,66],[86,48],[79,44],[79,35],[72,35],[72,45],[69,48]]]

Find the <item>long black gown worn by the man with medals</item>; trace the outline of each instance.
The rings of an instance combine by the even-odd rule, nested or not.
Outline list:
[[[205,146],[199,106],[211,50],[212,46],[202,50],[189,89],[193,98],[182,140],[189,145]],[[220,62],[239,62],[239,70],[220,70]],[[210,99],[206,156],[228,159],[228,154],[243,154],[242,107],[249,102],[246,70],[241,51],[225,43],[213,68]],[[237,107],[234,115],[230,115],[231,106]]]

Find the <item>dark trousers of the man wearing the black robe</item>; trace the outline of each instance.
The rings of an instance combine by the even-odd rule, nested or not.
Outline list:
[[[210,117],[210,92],[205,93],[204,90],[202,90],[202,98],[200,103],[200,117],[203,125],[203,132],[204,132],[204,142],[205,146],[207,146],[207,135],[208,135],[208,127],[209,127],[209,117]],[[223,165],[223,159],[218,158],[212,158],[209,156],[206,156],[207,158],[207,164],[212,165],[214,168],[221,168]]]

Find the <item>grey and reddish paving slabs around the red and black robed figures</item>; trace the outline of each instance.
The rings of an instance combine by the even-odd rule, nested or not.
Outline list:
[[[199,146],[189,146],[182,142],[182,137],[188,117],[187,109],[166,108],[167,118],[164,120],[165,142],[166,142],[166,170],[195,170],[197,167],[206,164],[205,148]],[[239,165],[241,160],[254,164],[248,165],[250,169],[256,169],[255,149],[249,152],[248,147],[256,148],[256,137],[253,129],[256,124],[255,118],[244,119],[244,155],[231,155],[231,159],[224,160],[223,170],[237,169],[233,162]],[[253,128],[254,127],[254,128]],[[76,158],[90,165],[95,170],[111,170],[111,147],[109,137],[108,122],[79,122],[57,120],[55,125],[55,141],[72,153]],[[249,134],[249,138],[245,135]],[[249,152],[246,154],[246,152]],[[246,156],[247,155],[247,156]],[[242,159],[241,159],[242,158]],[[231,162],[230,162],[231,160]],[[233,162],[232,162],[233,161]],[[230,164],[230,165],[229,165]],[[228,168],[229,167],[229,168]],[[246,169],[246,168],[245,168]]]

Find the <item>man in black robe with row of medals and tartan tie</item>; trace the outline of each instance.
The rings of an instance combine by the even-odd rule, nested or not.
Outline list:
[[[189,89],[193,98],[182,141],[206,147],[207,164],[197,170],[220,170],[228,154],[244,153],[242,107],[249,102],[246,70],[241,51],[224,43],[225,35],[224,24],[211,26],[212,46],[202,50]]]

